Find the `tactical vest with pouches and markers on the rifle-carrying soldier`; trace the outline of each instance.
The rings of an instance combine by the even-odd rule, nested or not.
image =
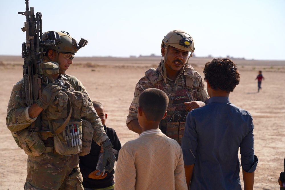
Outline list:
[[[83,156],[90,151],[94,132],[89,122],[82,122],[80,119],[87,115],[88,94],[81,89],[75,91],[64,75],[60,75],[56,82],[63,91],[41,112],[42,126],[52,132],[34,132],[29,127],[12,134],[18,146],[30,156],[39,156],[44,152],[54,152],[62,156],[82,152]],[[44,87],[42,85],[42,89]],[[82,124],[87,126],[83,130]]]

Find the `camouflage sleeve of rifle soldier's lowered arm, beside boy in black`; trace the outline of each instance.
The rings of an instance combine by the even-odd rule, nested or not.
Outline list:
[[[70,75],[69,75],[69,77],[71,77],[72,83],[75,85],[74,89],[76,91],[82,91],[82,92],[87,93],[83,84],[78,79],[76,79],[76,77],[73,77]],[[93,107],[93,104],[92,104],[92,101],[91,101],[89,95],[88,95],[88,103],[87,104],[88,104],[87,105],[88,114],[87,114],[87,116],[85,116],[84,119],[86,119],[87,121],[89,121],[92,124],[92,126],[94,128],[93,140],[100,146],[100,143],[105,141],[108,138],[108,136],[104,130],[104,126],[102,125],[101,119],[99,118],[99,116],[97,115],[97,113]]]

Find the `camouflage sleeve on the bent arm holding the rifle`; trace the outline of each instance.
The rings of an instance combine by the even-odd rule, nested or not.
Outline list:
[[[6,125],[11,132],[23,130],[30,126],[36,118],[29,117],[29,107],[22,101],[24,91],[23,79],[17,82],[11,91],[7,108]]]

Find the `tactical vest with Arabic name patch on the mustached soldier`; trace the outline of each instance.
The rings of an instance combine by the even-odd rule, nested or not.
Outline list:
[[[169,98],[167,107],[167,116],[160,122],[160,130],[166,136],[176,140],[181,145],[181,139],[184,135],[185,121],[188,111],[184,102],[194,101],[193,99],[193,81],[195,78],[194,69],[185,67],[186,83],[182,86],[182,90],[171,91],[169,83],[163,84],[162,79],[158,76],[158,71],[151,68],[145,72],[150,83],[157,89],[166,93]]]

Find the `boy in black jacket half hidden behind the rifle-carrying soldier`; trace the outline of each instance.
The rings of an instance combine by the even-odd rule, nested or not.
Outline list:
[[[110,138],[113,145],[113,152],[118,160],[119,150],[122,148],[119,138],[114,129],[106,127],[105,122],[107,119],[107,113],[105,113],[104,106],[99,102],[92,102],[93,106],[100,117],[102,124],[104,126],[104,130],[107,136]],[[105,171],[105,173],[101,173],[100,175],[96,175],[99,170],[96,170],[99,153],[101,150],[101,146],[97,145],[96,142],[92,140],[90,153],[85,156],[79,156],[79,167],[80,171],[83,175],[83,187],[85,190],[91,189],[114,189],[114,169],[109,173]],[[116,161],[117,161],[116,160]],[[109,163],[107,162],[107,165]]]

